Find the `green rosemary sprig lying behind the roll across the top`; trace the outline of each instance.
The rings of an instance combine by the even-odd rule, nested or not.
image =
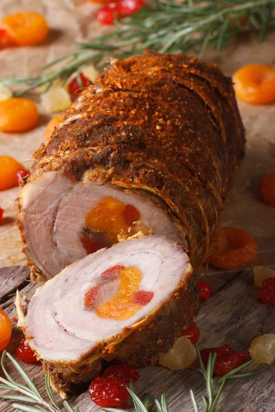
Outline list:
[[[263,41],[275,25],[275,0],[148,0],[133,16],[116,21],[116,30],[89,42],[76,42],[78,49],[53,60],[36,78],[8,78],[0,84],[25,84],[22,95],[41,85],[66,80],[86,63],[102,69],[106,58],[123,59],[144,48],[154,52],[184,53],[189,49],[203,56],[206,47],[222,49],[230,38],[243,32],[259,33]],[[56,68],[58,63],[61,67]],[[49,71],[50,69],[50,71]]]

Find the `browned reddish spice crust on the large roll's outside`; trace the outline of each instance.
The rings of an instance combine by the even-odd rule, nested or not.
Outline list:
[[[28,181],[50,170],[79,181],[88,170],[91,180],[156,194],[186,229],[197,268],[217,237],[244,147],[232,80],[217,65],[146,52],[114,61],[80,95],[36,152]]]

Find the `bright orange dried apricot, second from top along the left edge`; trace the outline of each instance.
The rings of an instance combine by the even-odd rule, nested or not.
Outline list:
[[[32,100],[11,98],[0,102],[0,130],[25,132],[36,126],[39,112]]]

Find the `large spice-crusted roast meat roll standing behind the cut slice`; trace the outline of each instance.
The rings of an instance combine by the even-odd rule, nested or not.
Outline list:
[[[58,124],[19,196],[33,273],[50,278],[142,231],[206,261],[244,155],[232,80],[182,54],[113,60]]]

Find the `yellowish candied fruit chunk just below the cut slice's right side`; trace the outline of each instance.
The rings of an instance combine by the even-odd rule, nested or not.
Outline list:
[[[180,336],[172,349],[159,358],[162,366],[168,367],[171,371],[178,371],[190,367],[197,359],[197,352],[190,339]]]

